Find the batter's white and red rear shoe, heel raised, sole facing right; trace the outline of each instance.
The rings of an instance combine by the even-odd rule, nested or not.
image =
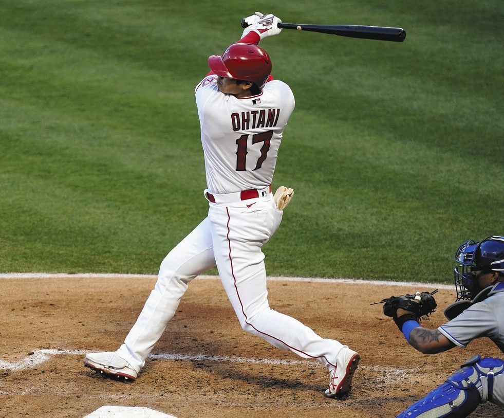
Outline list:
[[[361,357],[356,352],[344,347],[336,359],[336,367],[329,369],[329,388],[327,397],[346,399],[352,390],[353,373],[357,370]]]

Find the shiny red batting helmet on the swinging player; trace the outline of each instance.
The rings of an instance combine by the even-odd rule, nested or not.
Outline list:
[[[233,44],[222,55],[210,56],[208,65],[218,76],[251,81],[259,88],[272,68],[268,52],[254,44]]]

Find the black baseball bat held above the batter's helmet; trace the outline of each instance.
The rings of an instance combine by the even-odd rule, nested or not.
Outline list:
[[[241,27],[249,26],[244,19]],[[385,26],[362,26],[362,25],[306,25],[304,23],[279,23],[281,29],[306,30],[309,32],[329,33],[340,37],[376,39],[378,41],[403,42],[406,39],[406,31],[403,28],[388,28]]]

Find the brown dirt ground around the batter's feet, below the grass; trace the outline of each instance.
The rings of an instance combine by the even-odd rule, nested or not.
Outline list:
[[[119,347],[154,286],[146,278],[0,279],[0,417],[83,417],[103,405],[144,406],[189,417],[391,417],[477,353],[489,339],[435,356],[410,348],[369,306],[414,288],[274,281],[271,307],[359,351],[346,401],[323,396],[326,369],[242,331],[218,280],[194,280],[134,383],[83,367],[89,351]],[[420,289],[423,290],[423,289]],[[443,308],[454,290],[436,296]],[[442,308],[425,326],[445,322]],[[41,351],[42,350],[42,351]],[[500,417],[492,404],[473,417]]]

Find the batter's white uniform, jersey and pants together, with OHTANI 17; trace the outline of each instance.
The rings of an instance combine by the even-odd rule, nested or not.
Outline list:
[[[261,248],[282,220],[270,185],[294,96],[287,84],[274,80],[257,96],[236,98],[221,93],[216,79],[208,76],[195,89],[208,217],[161,263],[156,286],[117,354],[138,372],[175,314],[188,283],[217,266],[244,330],[275,347],[334,366],[346,346],[272,310],[267,298]]]

